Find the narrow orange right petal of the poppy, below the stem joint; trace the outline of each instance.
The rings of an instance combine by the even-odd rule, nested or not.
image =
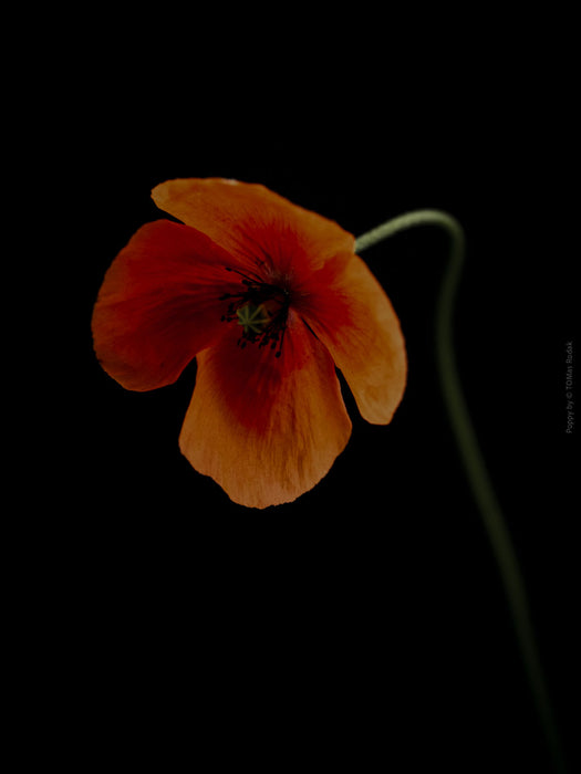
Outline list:
[[[313,282],[299,311],[343,373],[361,415],[387,425],[405,389],[407,358],[400,321],[366,264],[353,255],[344,271]]]

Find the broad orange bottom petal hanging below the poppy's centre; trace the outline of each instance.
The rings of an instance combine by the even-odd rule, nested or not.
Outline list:
[[[198,354],[179,446],[235,502],[290,502],[329,471],[351,421],[329,353],[292,311],[281,357],[231,331]]]

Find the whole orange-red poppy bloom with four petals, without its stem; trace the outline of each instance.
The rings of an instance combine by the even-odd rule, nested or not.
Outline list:
[[[108,269],[95,352],[123,387],[172,384],[197,358],[179,446],[237,503],[266,508],[314,487],[344,449],[335,366],[362,416],[390,422],[406,357],[400,323],[336,223],[263,186],[169,180]]]

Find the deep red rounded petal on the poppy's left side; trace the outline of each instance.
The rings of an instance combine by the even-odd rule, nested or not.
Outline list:
[[[208,237],[181,223],[143,226],[105,274],[93,311],[101,365],[123,387],[172,384],[195,355],[224,335],[228,266]]]

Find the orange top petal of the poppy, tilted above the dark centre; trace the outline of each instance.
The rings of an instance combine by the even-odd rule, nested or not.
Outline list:
[[[221,178],[177,179],[152,191],[159,209],[208,234],[241,261],[260,260],[273,273],[322,266],[339,253],[353,254],[355,239],[338,223],[257,184]]]

